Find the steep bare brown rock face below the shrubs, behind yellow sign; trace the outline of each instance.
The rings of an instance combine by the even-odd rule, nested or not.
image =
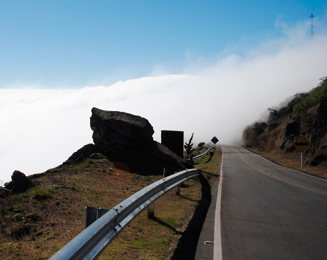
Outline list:
[[[310,165],[327,164],[327,98],[305,114],[289,113],[267,123],[257,122],[243,131],[243,144],[271,153],[298,153],[295,140],[304,136],[311,146],[303,153]]]

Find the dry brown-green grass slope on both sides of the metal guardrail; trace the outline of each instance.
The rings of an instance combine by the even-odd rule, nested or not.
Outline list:
[[[220,153],[195,167],[213,183]],[[75,167],[34,180],[25,193],[0,199],[0,260],[45,260],[84,228],[86,206],[111,209],[145,186],[142,176],[116,169],[105,160],[85,160]],[[155,202],[155,219],[142,212],[107,247],[101,259],[171,259],[201,199],[199,178]]]

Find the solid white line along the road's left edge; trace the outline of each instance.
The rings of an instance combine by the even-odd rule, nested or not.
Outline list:
[[[218,184],[218,194],[217,194],[216,210],[215,210],[213,260],[223,259],[220,208],[221,208],[221,200],[222,200],[224,150],[222,145],[221,147],[222,147],[222,162],[220,164],[220,178]]]

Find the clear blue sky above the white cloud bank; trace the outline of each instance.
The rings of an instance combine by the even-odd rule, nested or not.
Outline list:
[[[0,88],[82,88],[244,55],[281,24],[326,33],[327,2],[0,0]],[[310,37],[310,28],[306,28]],[[158,72],[159,70],[159,72]]]

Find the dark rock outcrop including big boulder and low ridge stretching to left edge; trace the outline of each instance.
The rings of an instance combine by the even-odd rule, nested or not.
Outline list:
[[[139,174],[162,174],[164,168],[193,168],[166,146],[153,140],[153,128],[145,118],[125,112],[92,109],[90,119],[94,144],[84,145],[61,165],[44,173],[26,176],[15,171],[12,181],[0,187],[0,196],[23,192],[33,186],[32,180],[47,173],[58,173],[87,158],[106,158],[117,168]]]

